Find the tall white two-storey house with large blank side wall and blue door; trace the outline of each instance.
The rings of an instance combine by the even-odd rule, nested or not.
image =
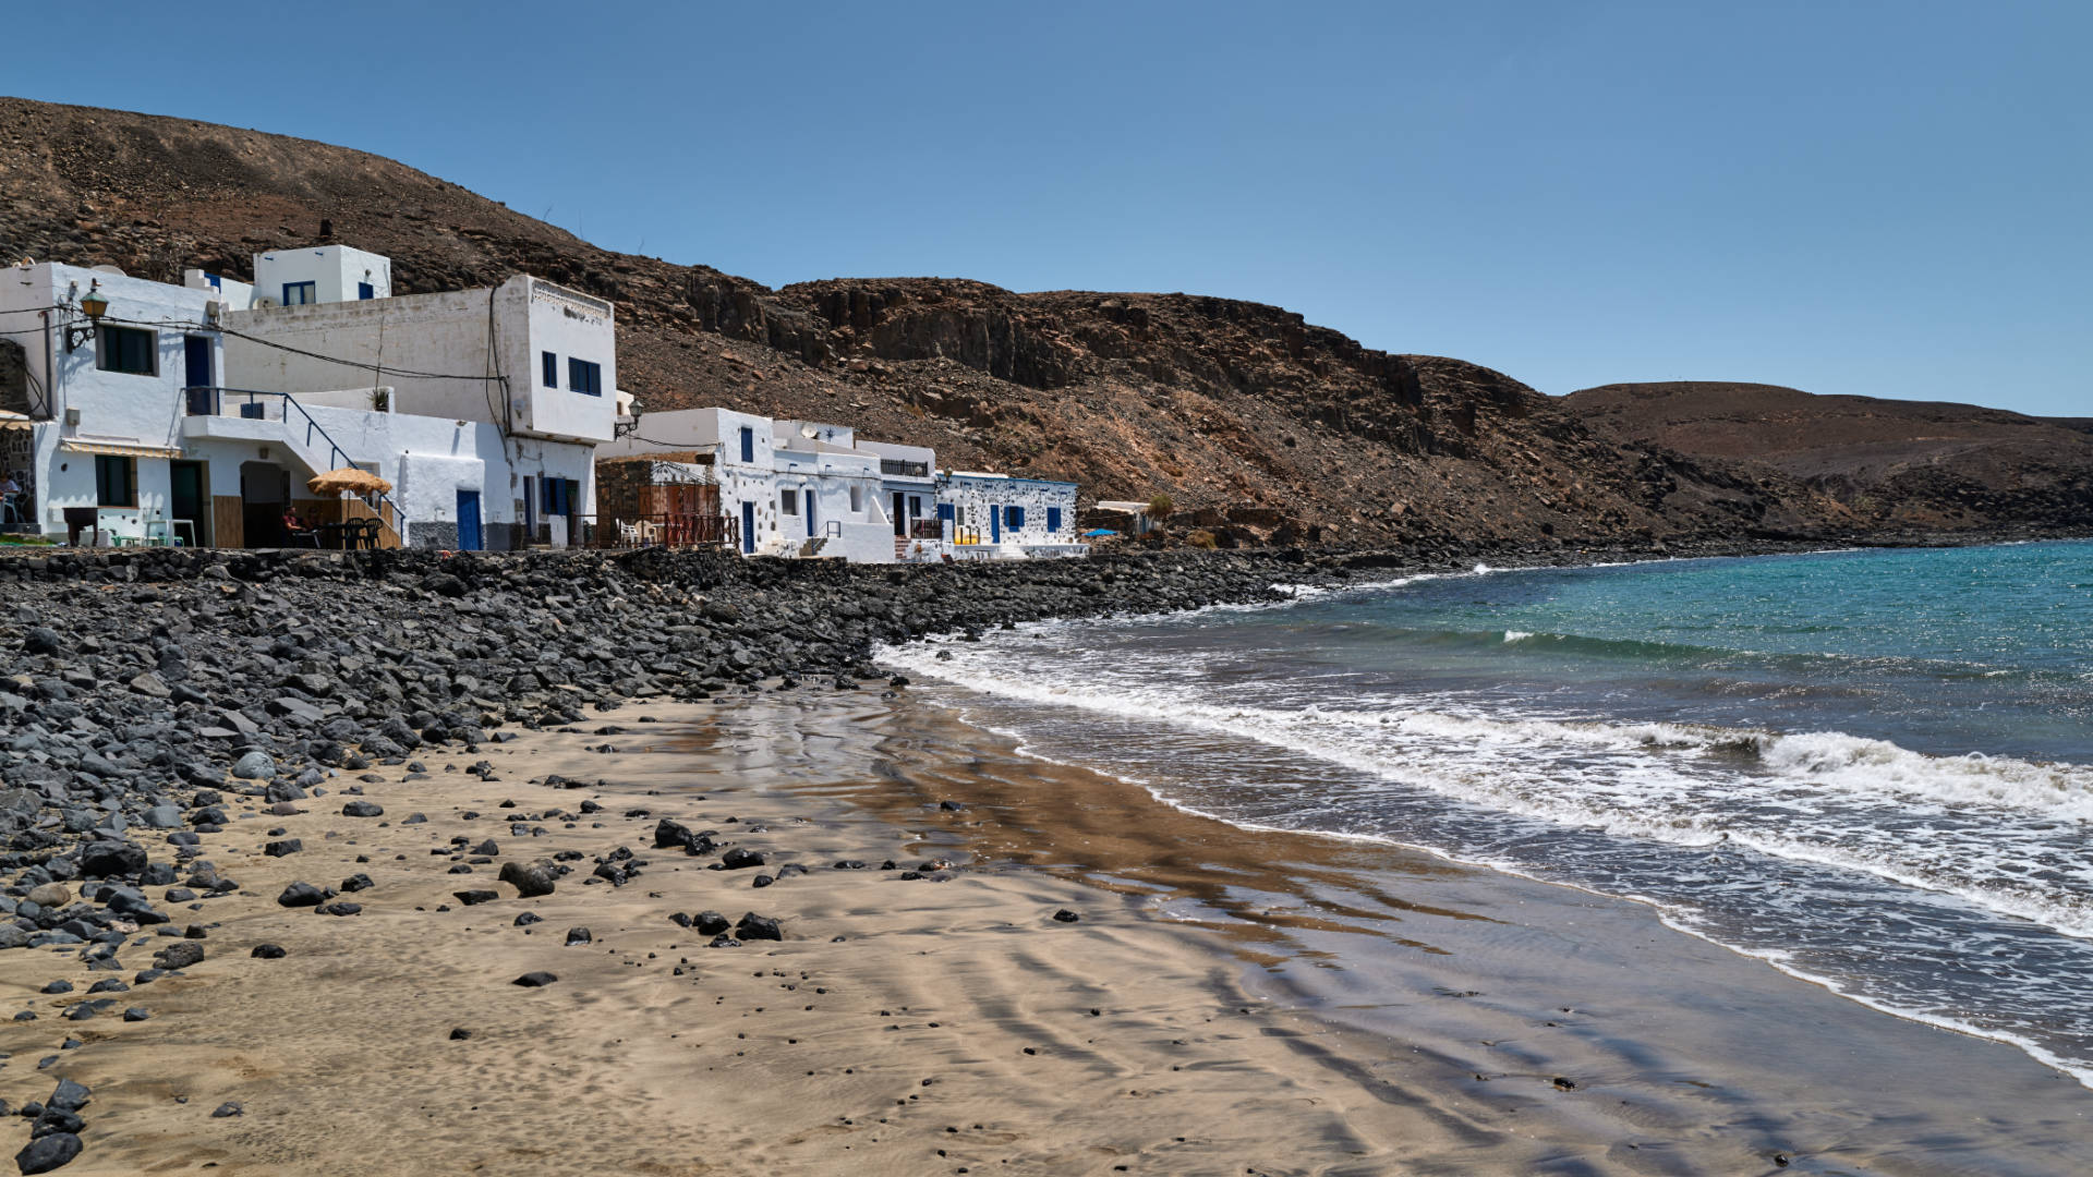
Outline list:
[[[347,281],[354,266],[341,272]],[[352,457],[377,461],[393,482],[414,547],[500,551],[519,538],[555,547],[586,538],[594,448],[617,419],[611,304],[517,274],[490,289],[257,304],[224,312],[222,325],[230,390],[337,408],[358,402],[356,410],[383,417],[370,423],[370,448]],[[228,417],[213,413],[199,429],[245,429]]]

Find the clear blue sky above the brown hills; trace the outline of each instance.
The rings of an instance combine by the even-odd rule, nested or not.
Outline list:
[[[377,151],[768,285],[1193,291],[1555,394],[1754,379],[2093,415],[2083,0],[6,21],[0,92]]]

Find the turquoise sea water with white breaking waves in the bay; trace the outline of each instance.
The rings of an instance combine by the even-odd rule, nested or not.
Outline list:
[[[1478,568],[883,658],[1183,808],[1645,901],[2093,1085],[2093,542]]]

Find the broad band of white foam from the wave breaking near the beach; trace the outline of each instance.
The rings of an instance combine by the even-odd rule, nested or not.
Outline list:
[[[1003,670],[1009,656],[992,643],[954,649],[948,662],[927,647],[881,656],[986,695],[1252,739],[1484,810],[1674,846],[1729,838],[2093,938],[2085,892],[2005,871],[2030,852],[2016,844],[2016,829],[2093,823],[2093,769],[2085,767],[1923,756],[1844,733],[1457,714],[1417,699],[1237,706],[1153,681],[1147,666],[1080,656],[1011,674]],[[1923,831],[1871,829],[1882,813],[1938,821]],[[2083,882],[2093,890],[2093,878]]]

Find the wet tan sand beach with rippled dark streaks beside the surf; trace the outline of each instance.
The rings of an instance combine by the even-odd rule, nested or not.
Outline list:
[[[601,718],[624,731],[381,769],[381,819],[331,790],[205,836],[241,892],[161,907],[207,926],[207,959],[105,1016],[54,1018],[174,940],[138,936],[123,974],[6,953],[0,995],[40,1018],[0,1022],[0,1097],[92,1087],[65,1173],[2093,1171],[2068,1076],[1630,903],[1239,831],[871,693]],[[494,781],[463,771],[481,756]],[[530,783],[548,773],[605,783]],[[768,863],[655,850],[659,817]],[[262,857],[276,827],[306,848]],[[448,873],[471,854],[431,850],[460,836],[500,854]],[[584,886],[617,846],[640,873]],[[582,859],[553,896],[494,882],[561,850]],[[751,886],[781,863],[808,873]],[[360,915],[274,903],[354,871]],[[710,949],[668,919],[707,909],[785,940]],[[534,970],[559,980],[511,984]],[[61,976],[75,993],[38,993]]]

